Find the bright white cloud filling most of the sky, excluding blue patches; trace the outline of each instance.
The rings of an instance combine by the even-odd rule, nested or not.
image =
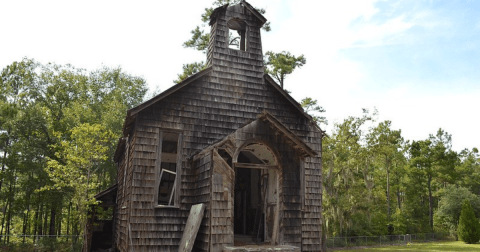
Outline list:
[[[205,55],[183,48],[182,43],[200,25],[200,15],[211,2],[3,1],[0,9],[8,11],[0,15],[0,68],[23,56],[90,70],[104,63],[121,66],[143,76],[151,88],[159,85],[165,90],[182,64],[205,60]],[[454,28],[448,18],[436,17],[415,1],[383,1],[392,5],[389,12],[378,2],[250,1],[265,8],[265,17],[272,23],[272,32],[262,32],[264,52],[286,50],[307,58],[307,64],[286,79],[286,88],[297,100],[318,99],[331,125],[359,115],[362,107],[376,106],[381,118],[392,120],[409,139],[425,139],[442,127],[453,134],[454,147],[470,147],[460,139],[480,142],[479,134],[468,136],[477,132],[473,108],[478,106],[473,101],[480,91],[428,96],[423,90],[418,93],[415,80],[392,80],[394,90],[366,91],[362,86],[375,81],[373,73],[366,71],[363,62],[348,58],[345,49],[413,44],[424,39],[424,33],[444,32],[439,27]],[[398,11],[401,8],[406,10]],[[421,33],[412,34],[415,28]]]

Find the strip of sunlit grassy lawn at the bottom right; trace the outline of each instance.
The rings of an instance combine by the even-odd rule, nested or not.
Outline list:
[[[353,249],[353,250],[338,250],[342,252],[378,252],[378,251],[480,251],[480,244],[465,244],[463,241],[437,241],[427,243],[413,243],[403,246],[385,246],[377,248]]]

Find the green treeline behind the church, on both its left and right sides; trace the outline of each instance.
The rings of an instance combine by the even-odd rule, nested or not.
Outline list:
[[[0,90],[0,244],[9,235],[83,234],[93,195],[115,182],[116,144],[145,81],[119,68],[24,59],[2,70]],[[316,100],[301,103],[326,123]],[[328,236],[455,235],[464,199],[480,217],[477,149],[453,151],[441,129],[408,141],[364,112],[323,139]]]

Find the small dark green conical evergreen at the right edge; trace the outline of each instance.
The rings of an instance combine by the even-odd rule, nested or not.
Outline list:
[[[462,205],[458,223],[458,236],[468,244],[474,244],[480,240],[480,222],[478,222],[468,200],[465,200]]]

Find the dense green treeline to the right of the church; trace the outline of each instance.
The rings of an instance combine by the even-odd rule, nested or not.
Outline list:
[[[332,236],[450,232],[461,205],[480,217],[478,150],[452,150],[442,129],[408,141],[368,111],[337,123],[323,139],[324,230]]]

